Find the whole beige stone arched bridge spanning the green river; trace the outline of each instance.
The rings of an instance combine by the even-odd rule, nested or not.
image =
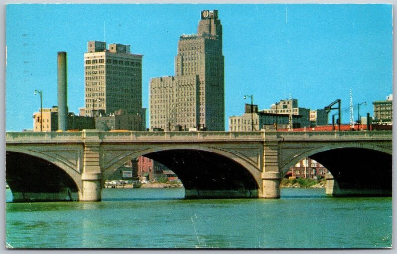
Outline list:
[[[323,164],[329,195],[392,193],[391,131],[7,132],[14,201],[99,201],[106,179],[144,155],[173,170],[186,198],[279,198],[304,157]]]

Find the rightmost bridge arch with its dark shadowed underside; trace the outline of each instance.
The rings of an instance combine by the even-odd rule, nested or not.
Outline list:
[[[302,150],[302,149],[300,149]],[[387,146],[348,143],[296,151],[280,164],[285,175],[290,167],[310,157],[332,174],[327,176],[327,194],[333,196],[390,196],[392,194],[392,149]]]

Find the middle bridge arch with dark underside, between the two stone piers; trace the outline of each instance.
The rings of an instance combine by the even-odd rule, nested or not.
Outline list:
[[[132,149],[119,161],[103,166],[103,181],[126,161],[139,156],[151,158],[173,170],[184,184],[185,197],[258,197],[262,193],[262,184],[258,182],[261,175],[258,165],[232,151],[202,145],[173,144],[170,147],[152,146],[140,151]],[[224,178],[227,177],[223,176],[228,173],[241,179],[226,181]],[[211,182],[200,181],[213,181],[218,187]]]

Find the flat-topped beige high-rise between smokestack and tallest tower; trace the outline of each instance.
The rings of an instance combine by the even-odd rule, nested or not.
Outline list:
[[[84,53],[85,115],[141,114],[142,55],[131,54],[130,45],[89,41]]]

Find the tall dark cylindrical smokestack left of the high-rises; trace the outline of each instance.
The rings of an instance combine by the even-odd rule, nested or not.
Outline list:
[[[67,115],[66,52],[58,52],[58,130],[67,131]]]

